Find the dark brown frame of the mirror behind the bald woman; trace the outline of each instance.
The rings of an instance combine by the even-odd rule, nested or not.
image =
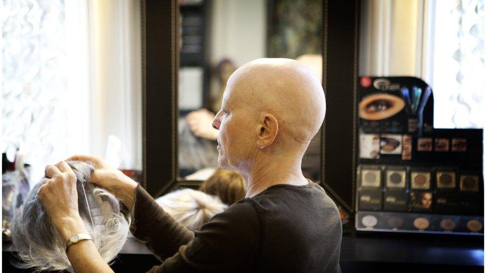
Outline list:
[[[141,0],[141,7],[142,185],[158,197],[201,181],[177,175],[177,0]],[[323,0],[323,88],[333,103],[327,104],[321,136],[321,185],[349,213],[355,205],[359,10],[360,0]]]

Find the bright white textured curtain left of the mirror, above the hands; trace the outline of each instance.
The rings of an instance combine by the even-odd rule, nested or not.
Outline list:
[[[140,6],[136,0],[3,0],[2,146],[32,165],[105,156],[109,135],[141,169]]]

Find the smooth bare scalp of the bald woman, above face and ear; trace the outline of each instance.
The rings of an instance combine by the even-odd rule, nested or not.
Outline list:
[[[223,98],[241,103],[255,118],[270,113],[278,121],[276,142],[307,147],[322,125],[326,101],[321,83],[302,63],[264,58],[240,67]]]

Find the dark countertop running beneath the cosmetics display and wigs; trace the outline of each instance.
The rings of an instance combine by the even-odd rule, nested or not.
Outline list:
[[[3,244],[3,258],[11,251]],[[444,236],[344,236],[341,244],[341,269],[343,272],[398,272],[417,267],[429,272],[483,272],[483,238]],[[133,238],[128,239],[112,268],[126,272],[128,268],[144,270],[160,264],[148,249]],[[9,272],[17,272],[8,265]],[[12,271],[13,270],[13,271]],[[18,270],[18,272],[22,272]],[[425,272],[425,271],[420,271]]]

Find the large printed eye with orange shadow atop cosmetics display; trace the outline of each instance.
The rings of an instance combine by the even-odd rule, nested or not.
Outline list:
[[[368,120],[379,120],[393,116],[405,106],[401,97],[374,93],[365,96],[359,105],[360,117]]]

